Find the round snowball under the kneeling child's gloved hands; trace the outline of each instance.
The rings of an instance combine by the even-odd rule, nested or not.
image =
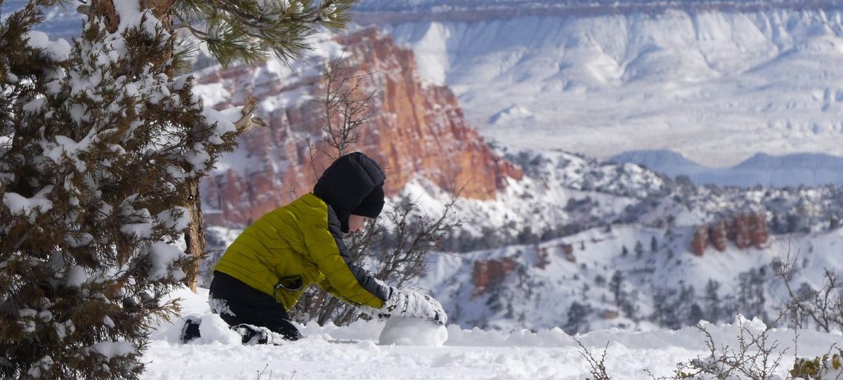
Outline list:
[[[427,319],[390,317],[380,332],[380,345],[441,346],[448,340],[448,329]]]

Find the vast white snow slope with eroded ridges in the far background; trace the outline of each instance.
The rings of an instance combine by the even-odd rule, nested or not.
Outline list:
[[[507,147],[670,148],[711,167],[843,153],[840,10],[436,19],[382,27]]]

